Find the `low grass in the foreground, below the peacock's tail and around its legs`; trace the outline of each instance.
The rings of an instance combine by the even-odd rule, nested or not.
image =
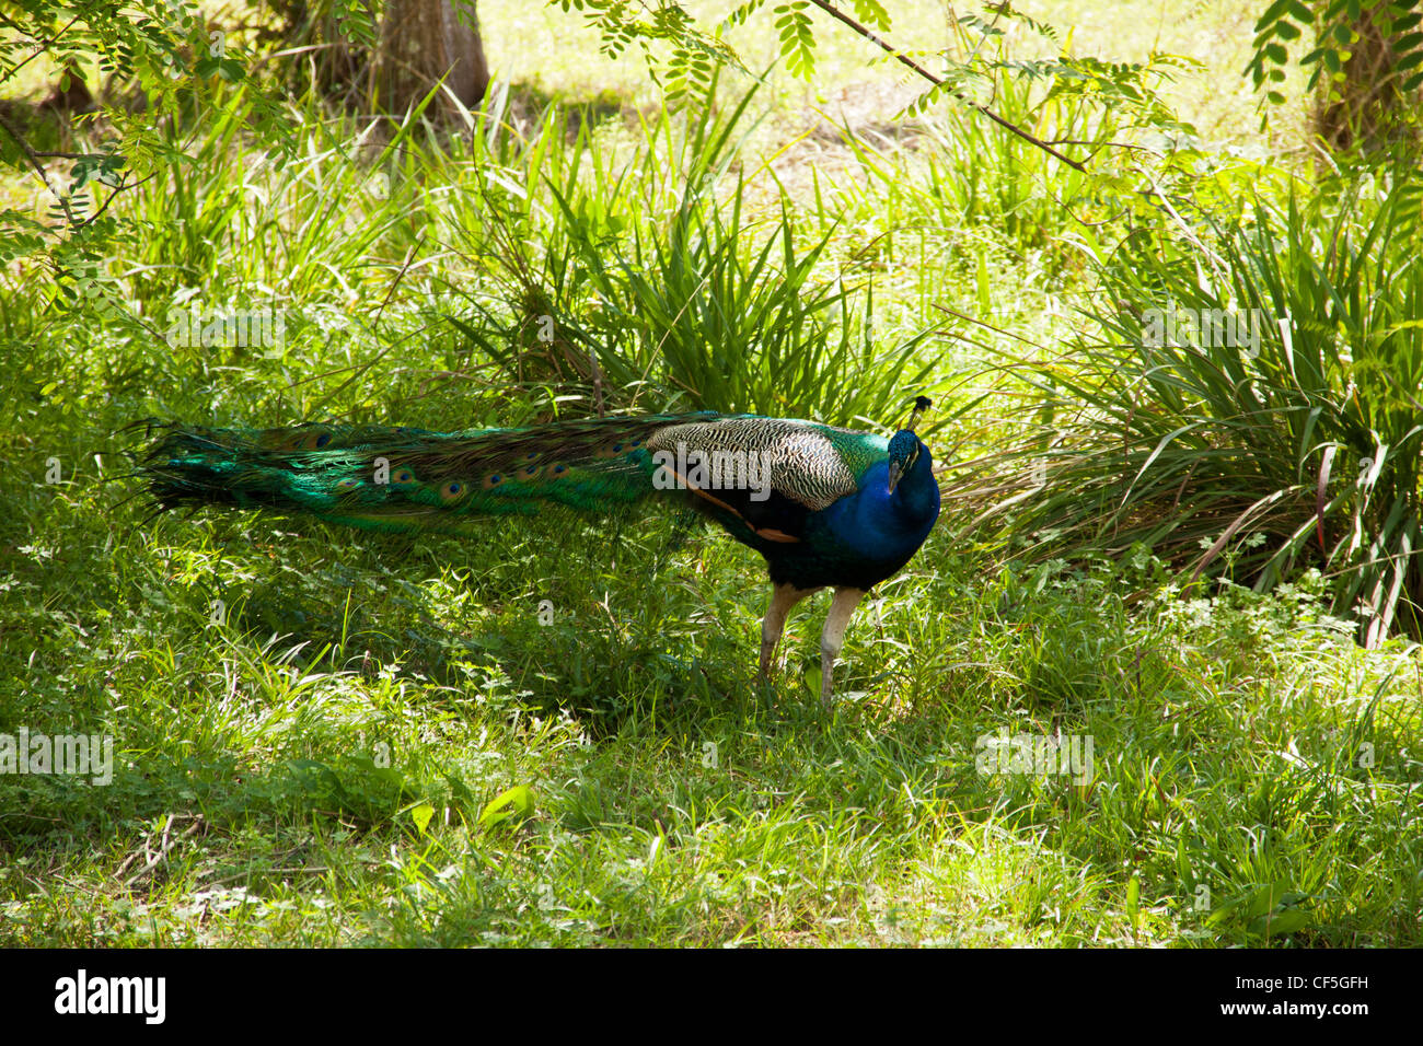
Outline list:
[[[68,571],[26,554],[68,598],[6,726],[112,734],[114,783],[4,781],[9,944],[1262,944],[1276,884],[1294,944],[1416,934],[1416,660],[1308,592],[1131,611],[1106,572],[979,578],[939,531],[825,714],[805,623],[774,702],[750,685],[729,542],[649,585],[636,544],[542,576],[504,535],[165,521],[94,576],[97,509],[54,534]],[[979,773],[979,739],[1059,730],[1094,739],[1086,784]],[[514,786],[532,814],[481,830]]]

